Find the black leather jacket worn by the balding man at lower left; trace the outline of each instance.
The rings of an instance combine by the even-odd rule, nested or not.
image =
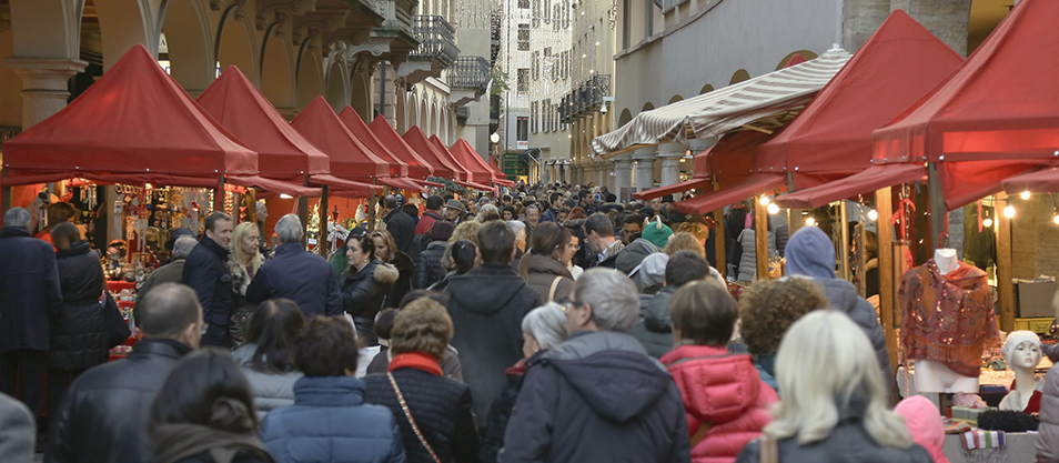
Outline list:
[[[124,360],[93,368],[73,381],[51,417],[46,463],[150,463],[151,402],[191,348],[144,339]]]

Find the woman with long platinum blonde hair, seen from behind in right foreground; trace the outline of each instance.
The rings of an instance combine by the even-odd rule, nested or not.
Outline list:
[[[912,442],[905,420],[887,407],[875,349],[846,314],[819,310],[790,325],[776,376],[784,395],[775,421],[736,463],[763,461],[763,446],[785,463],[932,462]]]

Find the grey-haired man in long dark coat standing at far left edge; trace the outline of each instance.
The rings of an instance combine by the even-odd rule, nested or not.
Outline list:
[[[48,314],[62,304],[62,291],[56,251],[33,239],[31,221],[28,211],[12,208],[3,214],[0,231],[0,392],[20,399],[38,416]],[[14,394],[17,389],[21,395]]]

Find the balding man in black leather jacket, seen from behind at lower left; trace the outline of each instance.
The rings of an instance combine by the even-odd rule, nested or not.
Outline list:
[[[147,463],[154,445],[148,412],[181,356],[199,346],[204,326],[190,288],[165,283],[143,298],[137,322],[143,339],[123,360],[79,376],[52,416],[48,463]]]

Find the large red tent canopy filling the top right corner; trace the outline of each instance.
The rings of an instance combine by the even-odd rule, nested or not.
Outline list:
[[[937,162],[955,209],[1059,155],[1059,2],[1022,0],[944,84],[875,131],[883,162]],[[974,162],[968,162],[974,161]]]

